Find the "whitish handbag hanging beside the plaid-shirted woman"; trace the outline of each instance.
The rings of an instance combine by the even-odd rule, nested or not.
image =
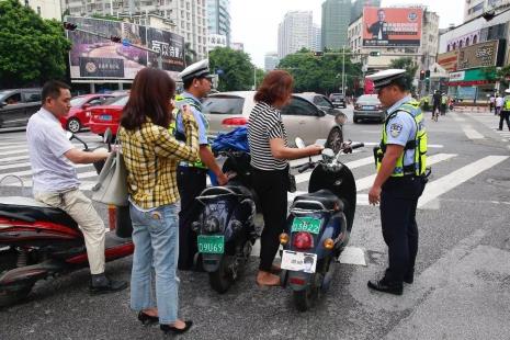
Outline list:
[[[95,202],[116,206],[128,205],[127,170],[122,152],[110,154],[92,192],[92,200]]]

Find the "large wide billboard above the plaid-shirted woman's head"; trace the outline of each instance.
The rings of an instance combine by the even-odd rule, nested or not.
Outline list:
[[[184,38],[168,31],[146,27],[128,22],[94,18],[67,16],[78,29],[116,35],[131,44],[139,45],[154,53],[129,44],[113,43],[107,38],[80,31],[67,31],[72,43],[69,52],[71,79],[133,80],[147,66],[158,67],[161,55],[162,69],[172,78],[184,69]]]

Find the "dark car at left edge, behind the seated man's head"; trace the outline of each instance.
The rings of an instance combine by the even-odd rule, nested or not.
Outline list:
[[[0,90],[0,127],[26,126],[41,107],[42,89]]]

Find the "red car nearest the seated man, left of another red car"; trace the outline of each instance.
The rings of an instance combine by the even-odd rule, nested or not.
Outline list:
[[[60,118],[60,124],[64,128],[76,134],[83,127],[89,126],[91,106],[103,105],[109,99],[114,98],[112,94],[83,94],[71,99],[71,109],[69,113]]]

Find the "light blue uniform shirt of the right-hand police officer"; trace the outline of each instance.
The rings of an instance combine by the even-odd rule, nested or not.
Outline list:
[[[392,117],[386,125],[386,135],[387,144],[396,144],[400,146],[406,146],[409,140],[415,139],[416,135],[416,122],[415,118],[407,112],[399,111],[398,109],[412,100],[410,95],[403,98],[396,102],[392,107],[388,109],[388,116],[397,112],[394,117]],[[415,162],[415,150],[406,150],[404,155],[404,165],[412,165]]]

